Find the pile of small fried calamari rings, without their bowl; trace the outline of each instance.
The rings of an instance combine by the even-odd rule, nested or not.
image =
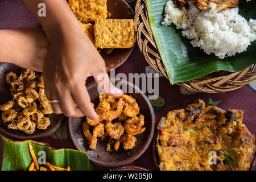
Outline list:
[[[9,123],[9,129],[27,134],[33,134],[36,127],[46,130],[51,122],[44,115],[53,111],[44,93],[43,77],[30,69],[22,69],[20,76],[7,73],[6,81],[11,85],[13,99],[0,106],[3,122]]]

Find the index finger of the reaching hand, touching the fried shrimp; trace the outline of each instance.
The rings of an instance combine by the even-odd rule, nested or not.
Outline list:
[[[99,120],[98,115],[94,110],[94,105],[90,102],[90,96],[84,84],[79,84],[76,89],[71,90],[71,94],[73,101],[84,115],[93,121]]]

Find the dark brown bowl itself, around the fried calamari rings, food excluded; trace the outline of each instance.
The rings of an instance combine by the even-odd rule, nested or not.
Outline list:
[[[21,69],[22,68],[10,63],[0,64],[0,96],[1,96],[0,105],[5,104],[5,102],[13,98],[10,93],[11,86],[7,84],[5,80],[6,74],[12,71],[12,72],[15,72],[17,75],[19,75]],[[2,114],[2,111],[0,111],[0,116],[1,114]],[[49,135],[55,133],[57,129],[59,129],[64,119],[64,115],[49,114],[47,117],[49,117],[49,119],[51,120],[51,125],[47,127],[47,130],[36,129],[34,134],[32,135],[23,133],[20,130],[8,129],[8,123],[3,123],[2,118],[0,117],[0,133],[7,138],[12,138],[16,140],[42,139],[42,138],[48,137]]]

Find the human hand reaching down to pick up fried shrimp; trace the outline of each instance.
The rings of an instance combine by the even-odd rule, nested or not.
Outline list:
[[[68,117],[86,115],[98,121],[86,90],[86,78],[93,76],[97,84],[104,85],[101,90],[111,96],[119,97],[123,93],[111,84],[105,61],[79,22],[76,23],[72,31],[59,28],[48,31],[49,48],[43,68],[46,95],[49,100],[59,100],[52,103],[55,113],[64,113]]]

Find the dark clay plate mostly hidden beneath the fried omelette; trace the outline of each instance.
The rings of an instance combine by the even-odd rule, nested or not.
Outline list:
[[[177,109],[183,109],[187,107],[186,106],[181,106],[181,107],[178,107]],[[218,107],[218,109],[220,109],[221,111],[224,111],[223,109],[221,109],[220,107]],[[160,170],[159,169],[159,155],[158,155],[158,147],[157,147],[157,141],[156,141],[156,138],[158,137],[158,129],[155,128],[155,134],[154,134],[154,138],[153,138],[153,141],[152,141],[152,156],[153,156],[153,160],[154,160],[154,164],[155,164],[155,168],[156,170]],[[251,162],[251,167],[250,167],[250,171],[256,171],[256,159],[255,159],[255,155],[254,155],[254,158],[253,158],[253,161]]]

